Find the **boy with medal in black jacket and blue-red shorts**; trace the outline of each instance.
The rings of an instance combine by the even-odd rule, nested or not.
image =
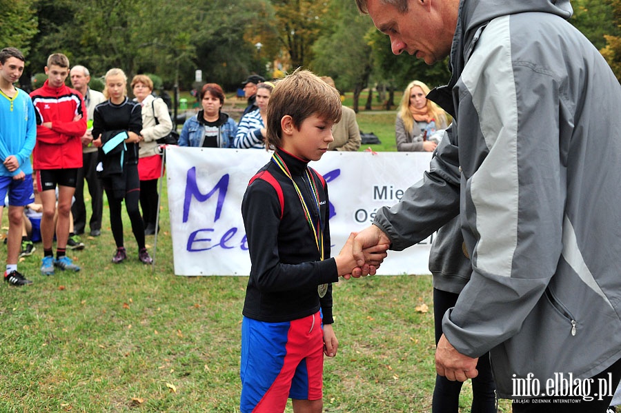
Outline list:
[[[308,70],[277,82],[270,97],[266,148],[273,157],[250,179],[242,201],[252,262],[242,322],[242,413],[283,412],[288,398],[294,412],[322,412],[324,354],[333,357],[338,348],[331,283],[356,267],[355,234],[330,258],[328,190],[308,162],[326,153],[340,117],[337,90]],[[373,273],[387,248],[366,250]]]

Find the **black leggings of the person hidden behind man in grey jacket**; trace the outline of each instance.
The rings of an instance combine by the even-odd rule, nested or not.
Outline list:
[[[435,325],[435,343],[442,336],[442,317],[446,310],[453,308],[459,294],[433,289],[433,316]],[[477,363],[479,375],[472,379],[472,413],[495,413],[495,383],[489,365],[489,353],[479,357]],[[457,413],[460,405],[461,381],[450,381],[438,374],[435,376],[433,389],[433,413]]]

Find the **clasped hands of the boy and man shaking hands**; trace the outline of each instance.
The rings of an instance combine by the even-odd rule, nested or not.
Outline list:
[[[335,256],[339,276],[348,280],[351,277],[375,275],[388,255],[386,251],[390,245],[391,240],[375,225],[360,232],[352,232]]]

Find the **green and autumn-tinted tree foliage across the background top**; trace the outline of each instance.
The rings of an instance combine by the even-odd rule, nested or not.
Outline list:
[[[572,3],[571,22],[619,76],[621,0]],[[413,79],[433,87],[450,76],[446,61],[394,56],[352,0],[0,0],[0,7],[2,45],[26,53],[22,82],[42,72],[52,52],[94,77],[112,67],[128,77],[156,73],[166,88],[192,88],[197,69],[202,81],[232,90],[250,73],[270,78],[304,66],[354,90],[357,108],[364,88],[402,90]]]

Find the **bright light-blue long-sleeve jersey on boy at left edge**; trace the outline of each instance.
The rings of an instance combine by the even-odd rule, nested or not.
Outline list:
[[[0,92],[0,114],[0,159],[14,155],[19,161],[19,168],[13,172],[0,163],[0,176],[10,177],[20,170],[32,174],[30,154],[37,141],[37,123],[28,93],[17,89],[10,98]]]

